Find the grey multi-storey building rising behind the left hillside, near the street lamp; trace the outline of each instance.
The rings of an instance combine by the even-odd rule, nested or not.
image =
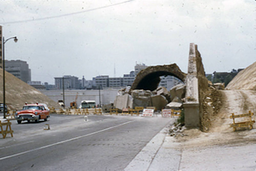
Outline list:
[[[31,70],[29,69],[29,65],[26,61],[5,60],[5,71],[11,73],[26,83],[31,81]]]

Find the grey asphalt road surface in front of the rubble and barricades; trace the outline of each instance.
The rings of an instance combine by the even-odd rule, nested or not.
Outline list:
[[[172,119],[138,116],[51,115],[12,121],[0,138],[0,170],[123,170]],[[50,130],[44,130],[45,124]]]

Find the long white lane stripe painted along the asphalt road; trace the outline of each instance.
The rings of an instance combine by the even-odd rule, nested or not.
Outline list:
[[[94,132],[94,133],[90,133],[90,134],[87,134],[87,135],[78,136],[78,137],[71,138],[71,139],[68,139],[68,140],[65,140],[65,141],[60,141],[60,142],[56,142],[56,143],[53,143],[53,144],[50,144],[50,145],[46,145],[46,146],[42,146],[42,147],[39,147],[39,148],[30,149],[29,151],[26,151],[26,152],[17,153],[17,154],[14,154],[14,155],[2,157],[2,158],[0,158],[0,160],[4,160],[4,159],[11,158],[11,157],[23,155],[23,154],[26,154],[26,153],[30,153],[30,152],[37,151],[37,150],[39,150],[39,149],[47,148],[47,147],[50,147],[50,146],[58,145],[58,144],[61,144],[61,143],[65,143],[65,142],[73,141],[73,140],[76,140],[76,139],[79,139],[79,138],[83,138],[83,137],[87,137],[87,136],[94,135],[94,134],[97,134],[97,133],[101,133],[101,132],[104,132],[104,131],[113,129],[114,127],[122,126],[122,125],[125,125],[125,124],[130,123],[130,122],[133,122],[133,121],[134,121],[134,120],[128,121],[128,122],[124,122],[124,123],[121,123],[121,124],[116,125],[116,126],[108,127],[107,129],[104,129],[104,130],[96,131],[96,132]]]

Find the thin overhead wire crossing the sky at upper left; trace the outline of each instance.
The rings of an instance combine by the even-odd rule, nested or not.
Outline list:
[[[99,10],[99,9],[103,9],[103,8],[109,8],[109,7],[112,7],[112,6],[129,3],[131,1],[134,1],[134,0],[124,1],[124,2],[121,2],[121,3],[111,4],[111,5],[107,5],[107,6],[103,6],[103,7],[98,7],[98,8],[93,8],[93,9],[89,9],[89,10],[83,10],[83,11],[73,12],[73,13],[68,13],[68,14],[61,14],[61,15],[42,17],[42,18],[36,18],[36,19],[19,20],[19,21],[14,21],[14,22],[4,22],[4,23],[0,23],[0,24],[1,25],[4,25],[4,24],[17,24],[17,23],[35,22],[35,21],[38,21],[38,20],[59,18],[59,17],[63,17],[63,16],[76,15],[76,14],[80,14],[80,13],[84,13],[84,12],[90,12],[90,11],[95,11],[95,10]]]

